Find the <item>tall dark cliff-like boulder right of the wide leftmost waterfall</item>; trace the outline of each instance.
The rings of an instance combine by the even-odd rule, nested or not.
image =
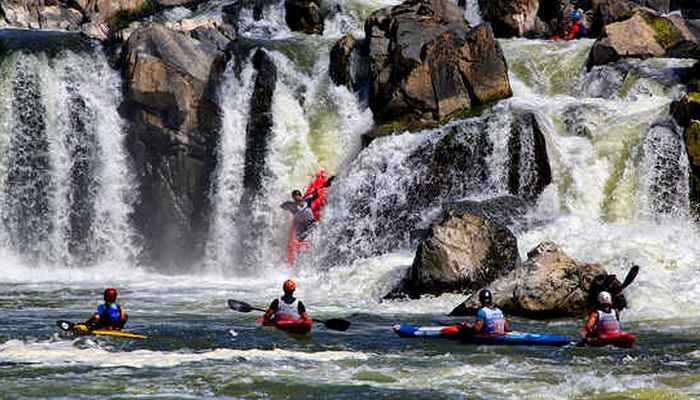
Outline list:
[[[188,265],[206,231],[219,132],[215,98],[223,53],[153,24],[126,43],[129,149],[139,168],[136,222],[151,261]]]

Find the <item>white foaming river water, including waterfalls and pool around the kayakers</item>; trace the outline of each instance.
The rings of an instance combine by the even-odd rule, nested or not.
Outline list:
[[[512,98],[479,117],[362,149],[373,124],[366,96],[331,82],[328,54],[341,35],[362,36],[372,10],[395,2],[345,3],[314,37],[286,28],[282,2],[270,2],[261,21],[242,11],[241,34],[261,43],[278,79],[264,195],[245,216],[257,228],[239,220],[257,72],[249,59],[232,58],[218,88],[205,256],[182,275],[137,261],[122,82],[103,50],[2,54],[0,398],[699,398],[700,232],[688,218],[681,129],[668,115],[684,90],[677,71],[691,63],[621,61],[588,71],[590,40],[501,40]],[[163,18],[192,13],[177,10]],[[193,17],[220,5],[199,12]],[[478,15],[468,2],[465,17],[476,23]],[[519,165],[507,157],[510,126],[525,114],[544,134],[552,182],[516,229],[521,256],[552,240],[618,275],[640,265],[623,314],[638,336],[634,349],[475,346],[391,331],[397,322],[445,321],[462,300],[381,300],[412,262],[411,230],[432,222],[444,201],[507,193],[514,168],[517,190],[528,195],[532,132],[525,128]],[[416,200],[427,174],[421,157],[447,135],[471,158],[439,201]],[[320,168],[338,178],[314,245],[289,269],[290,217],[278,205]],[[253,254],[241,254],[243,241],[255,244]],[[313,317],[349,319],[350,330],[318,325],[297,339],[226,307],[229,298],[264,307],[290,276]],[[119,288],[130,330],[149,339],[61,336],[55,321],[87,318],[107,286]],[[516,330],[569,336],[581,323],[513,321]]]

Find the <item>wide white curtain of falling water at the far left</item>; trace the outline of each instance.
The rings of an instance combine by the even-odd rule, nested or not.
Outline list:
[[[133,264],[121,80],[99,49],[85,49],[4,57],[4,246],[33,263]]]

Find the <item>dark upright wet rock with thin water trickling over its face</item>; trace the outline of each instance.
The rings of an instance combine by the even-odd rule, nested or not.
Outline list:
[[[534,113],[516,116],[511,125],[508,151],[509,192],[534,202],[552,182],[547,143]]]

